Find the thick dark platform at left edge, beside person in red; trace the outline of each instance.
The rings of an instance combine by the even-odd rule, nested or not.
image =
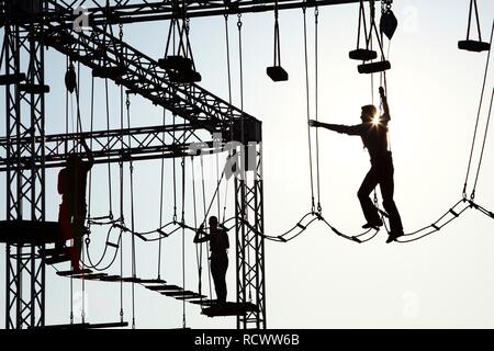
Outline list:
[[[40,220],[1,220],[0,242],[45,245],[54,244],[60,238],[61,230],[57,222]]]

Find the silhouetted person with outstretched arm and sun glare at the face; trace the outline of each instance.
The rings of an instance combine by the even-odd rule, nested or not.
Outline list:
[[[366,216],[367,224],[363,228],[377,228],[383,225],[379,217],[378,208],[369,197],[372,190],[379,184],[381,188],[382,204],[390,218],[390,236],[386,242],[392,242],[403,236],[403,225],[396,204],[393,200],[393,159],[388,145],[388,122],[390,122],[390,110],[384,89],[379,88],[384,113],[379,116],[374,105],[362,106],[360,118],[362,123],[357,125],[327,124],[311,120],[308,124],[313,127],[323,127],[329,131],[348,135],[358,135],[362,138],[363,146],[368,149],[371,169],[363,179],[357,193],[360,205]]]

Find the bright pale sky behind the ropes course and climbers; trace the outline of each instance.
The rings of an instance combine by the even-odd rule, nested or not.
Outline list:
[[[391,143],[395,166],[395,201],[405,231],[434,223],[461,199],[473,127],[479,106],[486,53],[457,48],[464,39],[467,0],[396,0],[394,13],[398,29],[392,39],[388,73],[389,103],[392,114]],[[494,3],[479,0],[483,41],[489,34]],[[238,41],[236,16],[229,20],[233,97],[239,105]],[[319,120],[357,124],[360,106],[371,103],[370,77],[357,72],[357,61],[348,58],[355,48],[358,4],[319,9]],[[307,10],[311,116],[314,116],[314,16]],[[162,57],[168,23],[134,24],[124,27],[124,38],[154,58]],[[191,44],[201,86],[227,100],[224,19],[192,19]],[[243,15],[245,110],[262,121],[265,226],[266,234],[279,235],[310,211],[311,188],[306,128],[305,72],[302,10],[280,14],[281,63],[290,75],[288,82],[273,83],[266,76],[272,66],[272,13]],[[473,32],[475,33],[475,32]],[[386,42],[388,45],[388,42]],[[65,58],[48,50],[46,77],[52,92],[46,99],[47,133],[65,129]],[[493,70],[486,82],[480,135],[484,133],[493,88]],[[81,71],[81,100],[85,128],[89,128],[90,72]],[[379,77],[375,77],[379,83]],[[378,97],[378,86],[374,95]],[[119,88],[110,84],[112,126],[120,121]],[[104,87],[96,86],[97,125],[105,126]],[[2,106],[3,109],[3,99]],[[374,103],[378,103],[374,100]],[[3,110],[2,110],[3,111]],[[158,125],[162,112],[141,98],[132,100],[135,125]],[[1,132],[4,135],[4,114]],[[96,127],[97,128],[97,127]],[[494,208],[493,133],[489,132],[484,161],[475,200]],[[324,216],[343,231],[359,233],[364,218],[357,190],[369,169],[368,154],[359,138],[319,132],[321,201]],[[475,159],[479,149],[475,149]],[[224,161],[225,156],[220,157]],[[165,222],[171,220],[171,160],[166,161]],[[177,163],[179,165],[179,163]],[[474,163],[475,165],[475,163]],[[159,224],[160,161],[134,165],[136,229],[149,230]],[[188,161],[187,166],[190,166]],[[207,197],[214,190],[215,158],[205,161]],[[189,167],[190,169],[190,167]],[[59,196],[57,170],[47,171],[47,219],[56,220]],[[109,211],[106,167],[94,170],[92,215]],[[112,166],[113,212],[117,213],[117,166]],[[4,183],[5,176],[0,174]],[[186,211],[193,220],[192,179],[188,173]],[[128,223],[128,167],[125,166],[125,216]],[[197,186],[199,186],[197,180]],[[234,213],[233,183],[228,183],[227,217]],[[471,188],[469,188],[470,193]],[[222,188],[222,206],[225,196]],[[5,199],[5,188],[0,188]],[[180,208],[179,202],[179,208]],[[199,202],[199,217],[202,218]],[[4,218],[4,201],[0,203]],[[90,253],[99,258],[108,228],[93,228]],[[402,245],[384,244],[380,233],[373,240],[358,245],[335,236],[322,223],[315,223],[297,239],[288,244],[266,244],[267,321],[269,328],[493,328],[494,327],[494,220],[473,210],[423,240]],[[116,233],[112,233],[115,236]],[[130,274],[130,238],[124,238],[124,275]],[[234,235],[231,234],[231,242]],[[192,235],[186,242],[186,286],[197,291],[198,270]],[[137,246],[137,273],[157,275],[158,245]],[[181,236],[162,242],[161,275],[182,284]],[[94,260],[96,260],[94,259]],[[105,262],[110,258],[105,259]],[[205,262],[205,261],[204,261]],[[228,299],[235,296],[235,257],[229,252]],[[4,301],[4,251],[0,253],[0,301]],[[205,264],[205,263],[204,263]],[[58,269],[67,269],[59,265]],[[109,272],[120,272],[120,261]],[[47,268],[46,324],[69,321],[69,280],[58,278]],[[209,290],[203,276],[203,287]],[[124,285],[125,320],[131,320],[131,285]],[[82,291],[75,282],[75,316],[80,320]],[[214,294],[214,291],[213,291]],[[138,328],[179,328],[181,303],[149,292],[135,290]],[[87,282],[87,320],[119,320],[120,285]],[[200,307],[187,305],[187,326],[191,328],[235,328],[235,318],[211,319]],[[4,305],[0,305],[4,316]],[[3,318],[2,318],[3,320]],[[2,321],[3,326],[3,321]]]

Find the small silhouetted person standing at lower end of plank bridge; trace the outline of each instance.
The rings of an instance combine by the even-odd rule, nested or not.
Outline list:
[[[202,237],[201,237],[202,235]],[[201,225],[195,231],[194,242],[210,241],[211,250],[211,274],[213,275],[214,290],[216,291],[217,302],[226,303],[226,270],[228,269],[228,234],[223,225],[218,225],[217,217],[210,217],[210,234],[204,231]]]

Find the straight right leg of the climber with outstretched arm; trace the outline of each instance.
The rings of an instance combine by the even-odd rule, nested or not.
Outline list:
[[[382,195],[382,205],[390,216],[390,231],[394,236],[400,236],[403,234],[402,218],[397,211],[396,204],[394,202],[394,180],[393,180],[393,162],[390,159],[388,162],[383,163],[380,177],[380,188]]]

